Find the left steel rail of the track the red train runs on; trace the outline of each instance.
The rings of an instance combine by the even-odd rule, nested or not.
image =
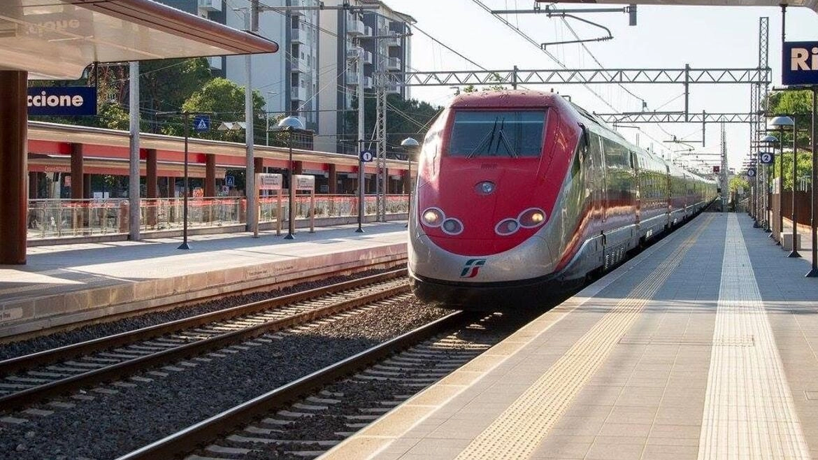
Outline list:
[[[218,436],[228,431],[236,430],[240,426],[245,426],[252,422],[254,418],[263,416],[274,410],[289,404],[293,399],[326,386],[340,377],[356,372],[371,363],[393,354],[399,350],[404,350],[411,345],[415,345],[429,336],[434,336],[441,331],[453,327],[462,318],[463,312],[454,312],[434,322],[419,327],[414,331],[409,331],[402,336],[395,337],[380,345],[375,345],[369,350],[364,350],[347,359],[332,364],[326,368],[312,372],[296,381],[281,386],[264,395],[239,404],[235,408],[208,418],[195,425],[189,426],[182,431],[169,435],[155,443],[148,444],[141,449],[127,453],[116,460],[152,460],[154,458],[176,458],[180,455],[190,453],[199,449],[202,445],[218,438]]]

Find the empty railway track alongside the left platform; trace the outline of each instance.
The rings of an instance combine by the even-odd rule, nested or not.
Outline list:
[[[7,359],[0,362],[0,408],[21,408],[406,291],[406,270],[394,270]]]

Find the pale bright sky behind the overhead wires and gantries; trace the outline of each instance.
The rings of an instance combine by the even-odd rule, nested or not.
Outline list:
[[[492,10],[532,10],[533,0],[481,0]],[[474,0],[385,0],[395,11],[411,15],[417,20],[412,36],[411,70],[479,70],[454,52],[434,43],[431,35],[487,70],[519,69],[545,70],[560,68],[544,52],[512,29],[503,25]],[[545,7],[545,4],[542,5]],[[557,8],[580,8],[573,3],[560,3]],[[590,7],[617,7],[593,5]],[[544,14],[505,15],[536,43],[573,39],[560,18]],[[592,20],[610,29],[613,39],[604,42],[555,45],[548,50],[568,68],[600,68],[596,60],[608,69],[683,68],[755,68],[758,63],[759,18],[770,18],[769,65],[772,69],[772,87],[780,87],[781,79],[781,11],[779,7],[683,7],[639,5],[637,25],[629,26],[623,12],[587,13],[583,19]],[[599,37],[601,29],[582,25],[568,19],[568,24],[582,38]],[[786,19],[788,41],[818,41],[818,14],[807,8],[790,7]],[[422,32],[420,32],[422,31]],[[590,53],[589,53],[590,52]],[[570,95],[572,101],[587,110],[600,113],[638,111],[642,100],[647,110],[684,110],[684,87],[681,84],[629,84],[625,88],[615,84],[591,85],[594,95],[582,85],[532,85],[531,89],[551,90]],[[411,97],[443,106],[455,90],[447,87],[412,87]],[[616,110],[612,110],[613,106]],[[690,85],[690,111],[717,112],[750,111],[748,84]],[[712,154],[721,151],[721,127],[708,124],[706,133],[701,124],[638,124],[634,128],[618,129],[619,133],[638,143],[653,147],[666,158],[701,163],[712,160]],[[701,141],[682,145],[664,142],[678,139]],[[728,165],[740,169],[750,145],[748,124],[726,124]],[[693,149],[691,151],[691,149]]]

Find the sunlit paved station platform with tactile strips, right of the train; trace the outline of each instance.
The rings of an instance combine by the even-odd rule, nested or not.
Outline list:
[[[321,460],[818,458],[818,278],[767,235],[700,214]]]

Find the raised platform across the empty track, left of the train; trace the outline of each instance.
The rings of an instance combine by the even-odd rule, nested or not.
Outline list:
[[[389,264],[407,255],[406,221],[29,248],[0,265],[0,339],[79,321],[194,301],[237,289]]]

